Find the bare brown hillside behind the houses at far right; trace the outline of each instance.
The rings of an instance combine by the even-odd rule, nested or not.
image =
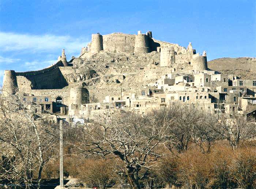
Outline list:
[[[244,79],[256,78],[256,58],[218,58],[208,61],[208,68]]]

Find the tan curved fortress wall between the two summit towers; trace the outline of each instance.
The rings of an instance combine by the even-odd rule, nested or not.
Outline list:
[[[122,33],[103,35],[103,49],[107,52],[133,53],[135,36]]]

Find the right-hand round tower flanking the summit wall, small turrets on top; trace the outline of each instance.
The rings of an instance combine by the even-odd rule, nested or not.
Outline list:
[[[150,53],[148,36],[141,34],[140,31],[135,37],[134,53]]]

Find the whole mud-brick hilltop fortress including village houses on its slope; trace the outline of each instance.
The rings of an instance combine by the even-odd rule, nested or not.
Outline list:
[[[242,85],[241,85],[242,84]],[[42,70],[5,70],[3,95],[19,92],[38,113],[67,120],[94,117],[111,108],[145,113],[183,102],[212,113],[254,110],[256,80],[241,80],[207,67],[206,51],[142,34],[92,34],[79,57],[65,51]],[[253,103],[252,103],[253,104]]]

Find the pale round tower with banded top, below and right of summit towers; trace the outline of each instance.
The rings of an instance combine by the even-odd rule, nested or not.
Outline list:
[[[160,66],[170,66],[175,63],[174,47],[161,47]]]

